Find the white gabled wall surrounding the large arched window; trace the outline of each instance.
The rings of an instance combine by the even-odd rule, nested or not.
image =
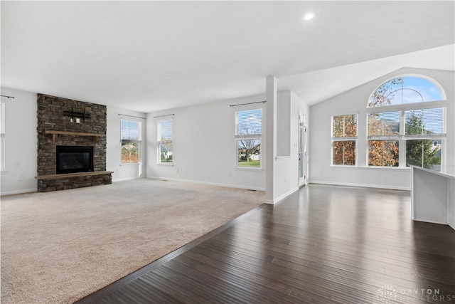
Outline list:
[[[366,143],[366,105],[370,94],[378,85],[399,75],[427,75],[436,80],[446,93],[446,168],[453,174],[455,169],[455,106],[454,72],[443,70],[422,70],[402,68],[373,80],[358,88],[330,98],[310,108],[311,145],[309,150],[310,182],[345,184],[352,186],[381,187],[388,189],[410,189],[410,169],[368,167]],[[331,116],[358,113],[357,166],[331,166]]]

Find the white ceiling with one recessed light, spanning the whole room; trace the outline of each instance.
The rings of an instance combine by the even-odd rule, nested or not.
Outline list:
[[[305,22],[301,16],[315,11]],[[454,68],[454,1],[1,1],[1,85],[154,112]]]

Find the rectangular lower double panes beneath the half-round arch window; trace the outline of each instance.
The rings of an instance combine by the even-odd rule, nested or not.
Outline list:
[[[368,165],[441,168],[444,108],[368,114]],[[402,150],[400,152],[400,147]],[[400,164],[400,154],[406,162]]]

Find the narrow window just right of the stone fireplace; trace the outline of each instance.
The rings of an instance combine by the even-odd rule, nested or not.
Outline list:
[[[142,123],[135,120],[121,120],[122,164],[141,162]]]

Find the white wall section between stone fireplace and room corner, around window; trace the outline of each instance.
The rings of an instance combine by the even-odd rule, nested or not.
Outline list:
[[[120,120],[131,119],[141,122],[142,125],[142,145],[141,145],[141,163],[140,164],[122,164],[122,141],[120,137]],[[137,179],[145,177],[146,168],[146,117],[145,113],[125,110],[107,106],[107,165],[106,169],[112,171],[112,182],[120,182],[128,179]]]

